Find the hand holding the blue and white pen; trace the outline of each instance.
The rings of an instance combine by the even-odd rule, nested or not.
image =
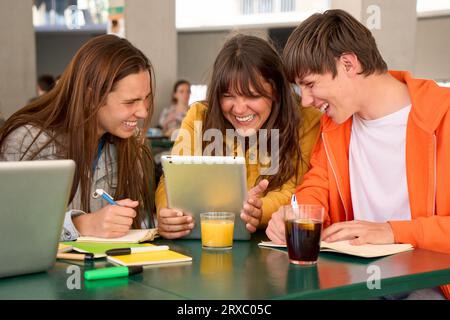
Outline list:
[[[125,236],[136,217],[138,201],[117,200],[118,205],[107,205],[98,211],[73,219],[78,232],[83,236],[118,238]]]

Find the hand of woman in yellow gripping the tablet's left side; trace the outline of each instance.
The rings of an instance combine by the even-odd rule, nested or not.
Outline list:
[[[162,208],[158,213],[158,232],[166,239],[188,235],[194,228],[194,218],[178,209]]]

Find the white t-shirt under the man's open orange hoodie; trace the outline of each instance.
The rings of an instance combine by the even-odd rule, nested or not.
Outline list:
[[[355,220],[411,220],[406,124],[411,105],[375,120],[353,115],[350,189]]]

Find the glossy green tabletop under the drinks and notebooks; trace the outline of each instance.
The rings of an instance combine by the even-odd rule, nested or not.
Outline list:
[[[422,249],[379,259],[321,253],[317,266],[292,265],[285,251],[260,248],[263,233],[226,252],[200,241],[157,240],[192,263],[146,268],[129,278],[81,281],[68,288],[69,261],[43,273],[0,279],[0,299],[367,299],[450,283],[450,255]],[[105,259],[80,270],[109,266]],[[369,289],[374,270],[380,289]],[[82,274],[82,272],[81,272]],[[372,276],[372,278],[371,278]]]

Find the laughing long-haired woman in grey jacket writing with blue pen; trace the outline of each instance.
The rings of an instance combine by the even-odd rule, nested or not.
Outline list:
[[[8,119],[0,160],[75,161],[62,239],[151,227],[154,171],[144,134],[152,110],[150,61],[125,39],[99,36],[76,53],[55,88]],[[119,206],[93,199],[97,188],[122,199]]]

